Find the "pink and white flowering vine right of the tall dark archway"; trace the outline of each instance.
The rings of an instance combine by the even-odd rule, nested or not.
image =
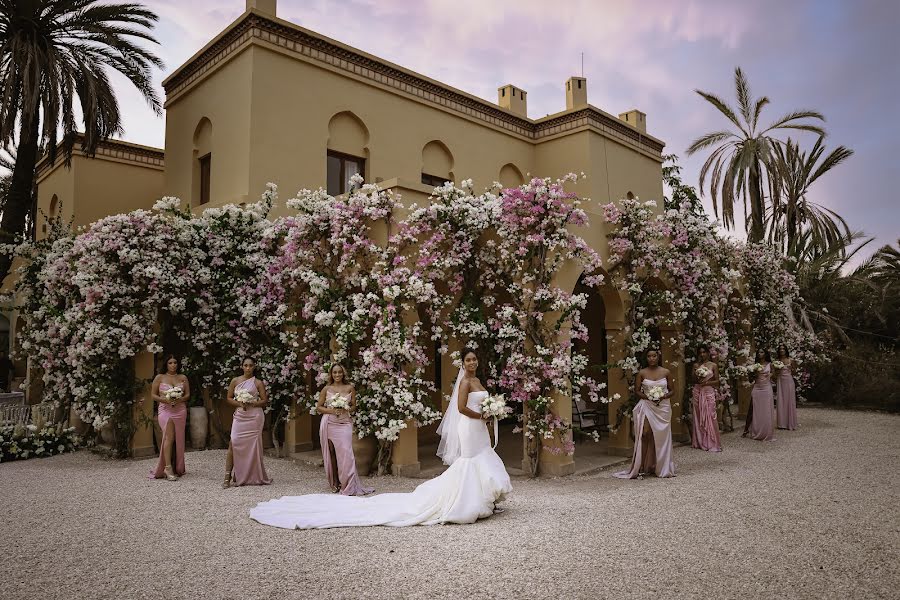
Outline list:
[[[740,375],[751,341],[764,348],[787,343],[801,357],[817,351],[815,335],[791,317],[797,287],[774,250],[723,239],[691,199],[660,210],[655,201],[630,198],[604,206],[603,214],[613,227],[612,281],[629,299],[618,363],[629,383],[644,353],[661,342],[675,350],[664,357],[668,366],[690,365],[707,345],[726,375],[721,401],[730,401],[729,380]],[[612,428],[630,416],[637,402],[631,391]]]

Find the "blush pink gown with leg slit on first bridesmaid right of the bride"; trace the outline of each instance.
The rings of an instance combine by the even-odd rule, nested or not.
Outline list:
[[[668,391],[665,379],[645,379],[643,387],[662,387]],[[657,406],[649,400],[641,400],[634,407],[634,454],[631,467],[626,471],[613,473],[619,479],[636,479],[644,473],[655,473],[657,477],[675,477],[675,463],[672,460],[672,405],[665,399]],[[643,447],[644,423],[650,424],[653,433],[653,448]]]

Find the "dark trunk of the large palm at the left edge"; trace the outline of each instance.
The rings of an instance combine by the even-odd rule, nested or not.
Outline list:
[[[37,114],[37,111],[34,112]],[[38,118],[22,121],[16,165],[0,222],[0,243],[12,244],[25,231],[25,221],[34,204],[34,170],[38,160]],[[6,279],[12,256],[0,253],[0,282]]]

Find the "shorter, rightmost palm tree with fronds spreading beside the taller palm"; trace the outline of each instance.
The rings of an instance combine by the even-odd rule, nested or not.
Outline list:
[[[838,244],[850,233],[839,214],[807,198],[809,187],[819,177],[853,155],[853,150],[838,146],[819,163],[825,153],[822,141],[819,137],[809,153],[801,151],[800,145],[790,138],[772,146],[771,202],[766,221],[769,241],[782,251],[789,251],[806,229],[811,234],[810,243],[823,249]]]

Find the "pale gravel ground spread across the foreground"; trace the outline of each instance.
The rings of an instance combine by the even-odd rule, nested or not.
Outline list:
[[[775,442],[675,451],[678,477],[515,479],[475,525],[287,531],[260,500],[326,489],[270,460],[275,483],[222,490],[223,452],[89,452],[0,465],[0,596],[18,598],[898,598],[900,416],[804,409]],[[412,479],[369,479],[379,491]]]

